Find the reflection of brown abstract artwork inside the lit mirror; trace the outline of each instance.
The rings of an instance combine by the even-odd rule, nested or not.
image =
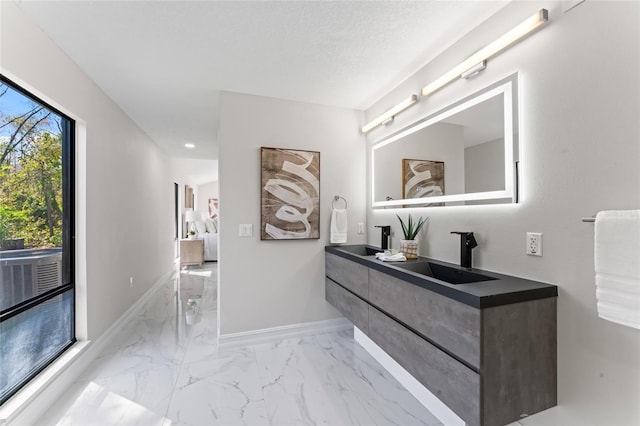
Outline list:
[[[402,198],[444,195],[444,161],[402,159]],[[427,204],[441,206],[443,203]]]

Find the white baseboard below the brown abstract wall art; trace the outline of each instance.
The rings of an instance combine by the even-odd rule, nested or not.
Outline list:
[[[249,346],[276,339],[291,339],[313,334],[346,330],[351,327],[353,327],[353,324],[346,318],[335,318],[323,321],[284,325],[280,327],[263,328],[260,330],[243,331],[241,333],[223,334],[218,337],[218,345],[222,348]]]

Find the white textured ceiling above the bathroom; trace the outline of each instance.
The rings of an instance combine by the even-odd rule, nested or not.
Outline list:
[[[19,6],[170,155],[216,159],[220,91],[364,110],[507,3]]]

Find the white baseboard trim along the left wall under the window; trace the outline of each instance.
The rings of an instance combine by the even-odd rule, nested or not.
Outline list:
[[[97,339],[76,342],[56,361],[0,407],[0,425],[33,425],[111,343],[116,334],[174,273],[163,274]]]

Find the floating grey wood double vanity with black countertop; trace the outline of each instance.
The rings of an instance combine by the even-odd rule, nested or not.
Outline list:
[[[462,420],[556,405],[556,286],[374,252],[326,247],[326,300]]]

